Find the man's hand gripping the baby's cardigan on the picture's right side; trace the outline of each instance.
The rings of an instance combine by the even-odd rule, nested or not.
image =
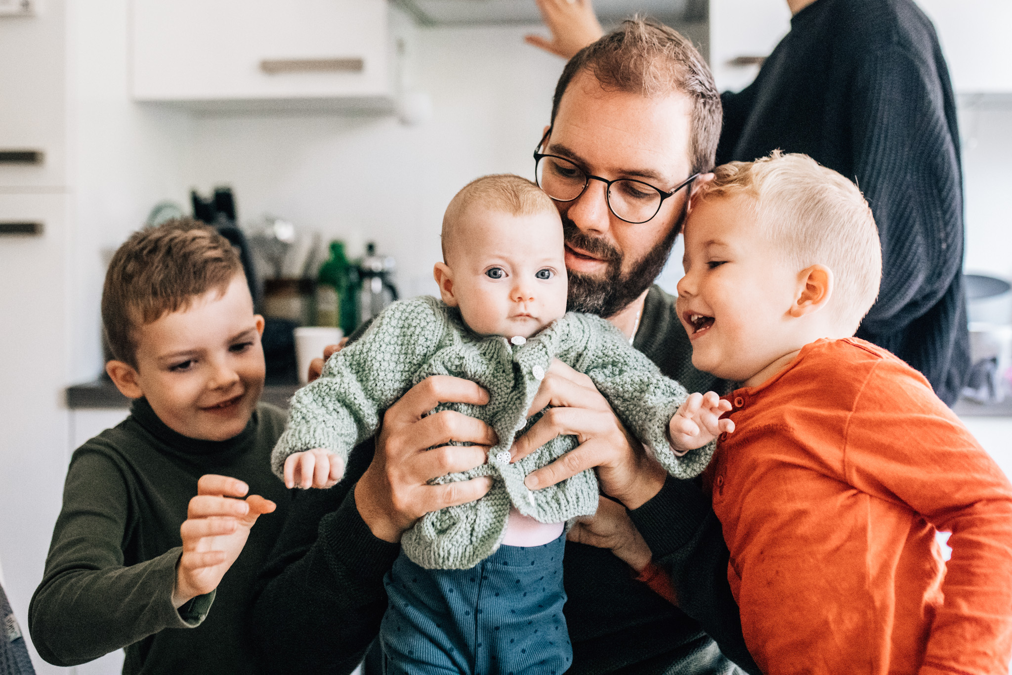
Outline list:
[[[525,481],[529,489],[545,488],[596,468],[604,494],[636,509],[664,487],[664,469],[625,430],[590,377],[559,359],[553,361],[541,381],[527,415],[546,406],[552,408],[513,444],[513,460],[560,434],[575,435],[580,445],[530,473]]]

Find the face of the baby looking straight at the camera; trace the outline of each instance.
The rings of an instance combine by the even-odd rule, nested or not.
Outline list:
[[[558,214],[511,216],[468,207],[448,243],[448,305],[481,335],[530,337],[566,314],[566,259]]]

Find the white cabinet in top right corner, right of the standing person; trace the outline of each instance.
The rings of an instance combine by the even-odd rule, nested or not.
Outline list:
[[[935,24],[958,93],[1012,92],[1009,0],[917,0]]]

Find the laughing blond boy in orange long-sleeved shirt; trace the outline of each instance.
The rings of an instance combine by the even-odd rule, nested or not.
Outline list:
[[[1007,673],[1012,486],[919,372],[851,337],[881,272],[860,191],[804,155],[734,162],[684,236],[692,363],[741,384],[705,476],[759,667]]]

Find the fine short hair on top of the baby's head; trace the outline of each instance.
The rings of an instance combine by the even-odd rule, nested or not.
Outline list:
[[[476,178],[460,188],[443,214],[442,250],[443,262],[448,263],[446,253],[448,243],[457,234],[457,225],[463,213],[472,204],[509,214],[510,216],[533,216],[553,214],[559,216],[556,202],[541,191],[535,183],[512,173],[495,173]]]

